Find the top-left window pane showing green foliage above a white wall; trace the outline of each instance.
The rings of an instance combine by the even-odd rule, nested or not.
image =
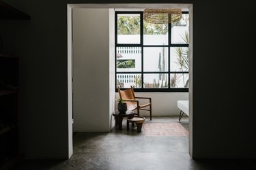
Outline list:
[[[117,44],[140,44],[139,14],[117,14]]]

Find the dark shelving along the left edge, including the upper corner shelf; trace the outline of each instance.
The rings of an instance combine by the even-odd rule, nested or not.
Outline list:
[[[1,20],[30,20],[30,16],[0,1]],[[22,158],[18,152],[18,57],[0,51],[0,169],[12,169]]]

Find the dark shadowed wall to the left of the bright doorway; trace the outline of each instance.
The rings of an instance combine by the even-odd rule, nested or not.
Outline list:
[[[31,20],[1,20],[19,71],[19,143],[26,158],[68,158],[67,7],[55,1],[5,1]]]

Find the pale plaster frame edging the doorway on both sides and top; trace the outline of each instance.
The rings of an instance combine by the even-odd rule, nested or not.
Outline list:
[[[192,3],[83,3],[67,4],[67,25],[68,25],[68,158],[73,154],[73,111],[72,111],[72,9],[73,8],[105,8],[105,9],[137,9],[137,8],[171,8],[184,7],[188,8],[189,17],[189,135],[188,149],[190,156],[193,155],[193,4]]]

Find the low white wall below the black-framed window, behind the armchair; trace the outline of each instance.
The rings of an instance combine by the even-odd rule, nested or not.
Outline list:
[[[177,108],[178,100],[188,100],[188,92],[135,92],[137,97],[152,97],[152,116],[179,116],[180,109]],[[119,98],[118,92],[115,99]],[[140,104],[148,100],[140,100]],[[117,109],[117,103],[115,103]],[[150,112],[141,110],[141,116],[150,116]]]

